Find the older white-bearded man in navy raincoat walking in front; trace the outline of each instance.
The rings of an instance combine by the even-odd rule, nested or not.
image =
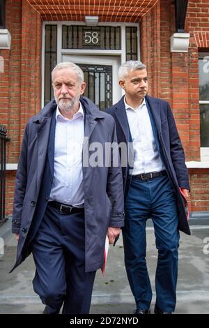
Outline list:
[[[73,63],[52,71],[55,101],[26,125],[17,169],[13,233],[19,265],[32,252],[33,288],[44,313],[88,313],[104,244],[123,226],[121,167],[83,163],[89,148],[116,142],[114,119],[81,97],[84,73]],[[85,155],[91,156],[89,149]],[[103,156],[103,153],[102,153]],[[86,158],[85,158],[86,160]],[[15,267],[13,269],[15,269]]]

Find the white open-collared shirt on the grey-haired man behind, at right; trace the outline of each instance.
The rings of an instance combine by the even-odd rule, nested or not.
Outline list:
[[[134,147],[134,169],[132,174],[164,170],[165,167],[157,151],[145,98],[136,110],[127,105],[125,98],[124,103]]]

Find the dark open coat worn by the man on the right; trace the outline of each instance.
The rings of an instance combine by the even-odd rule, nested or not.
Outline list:
[[[107,113],[111,114],[116,121],[118,144],[121,142],[125,142],[125,144],[132,142],[123,98],[107,110]],[[191,234],[187,216],[185,214],[185,205],[179,191],[179,188],[186,188],[189,190],[189,177],[187,167],[185,165],[183,146],[178,135],[176,123],[171,112],[171,107],[167,101],[150,96],[146,96],[146,102],[150,107],[150,121],[153,127],[157,148],[162,155],[162,161],[164,162],[169,178],[171,179],[173,187],[176,191],[179,214],[178,229],[186,234]],[[132,149],[130,149],[129,163],[130,168],[133,167],[134,158]],[[124,193],[127,195],[132,177],[127,166],[122,167],[122,170]]]

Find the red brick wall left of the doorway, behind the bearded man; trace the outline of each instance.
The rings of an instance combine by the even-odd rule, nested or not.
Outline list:
[[[26,121],[40,110],[41,20],[26,0],[6,1],[10,50],[0,50],[0,122],[8,129],[7,163],[17,163]],[[13,208],[15,172],[6,174],[6,214]]]

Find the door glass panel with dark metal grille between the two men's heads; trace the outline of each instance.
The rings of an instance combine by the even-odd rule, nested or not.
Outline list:
[[[77,64],[84,72],[86,90],[84,96],[90,98],[100,110],[112,105],[112,66]]]

